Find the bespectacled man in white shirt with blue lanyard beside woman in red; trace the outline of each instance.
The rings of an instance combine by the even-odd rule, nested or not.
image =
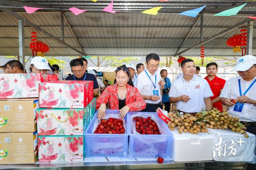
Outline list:
[[[146,102],[146,109],[142,111],[156,112],[161,107],[161,90],[165,82],[158,71],[160,58],[157,54],[151,53],[146,57],[146,68],[142,71],[137,80],[137,88]]]

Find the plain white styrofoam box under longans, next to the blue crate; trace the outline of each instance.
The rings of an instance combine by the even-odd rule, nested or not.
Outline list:
[[[172,131],[172,159],[176,162],[212,160],[213,137],[208,133],[191,134]]]

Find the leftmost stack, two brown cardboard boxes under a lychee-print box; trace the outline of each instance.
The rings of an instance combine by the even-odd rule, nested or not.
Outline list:
[[[36,109],[38,83],[58,80],[51,74],[0,74],[0,164],[38,160]],[[20,98],[20,99],[18,99]]]

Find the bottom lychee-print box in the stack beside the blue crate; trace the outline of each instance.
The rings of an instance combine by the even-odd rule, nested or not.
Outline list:
[[[38,136],[39,162],[83,162],[84,136]]]

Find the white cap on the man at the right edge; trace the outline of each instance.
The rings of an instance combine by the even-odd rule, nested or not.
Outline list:
[[[236,66],[232,71],[246,71],[249,70],[253,64],[256,64],[256,57],[253,55],[245,55],[237,59]]]

